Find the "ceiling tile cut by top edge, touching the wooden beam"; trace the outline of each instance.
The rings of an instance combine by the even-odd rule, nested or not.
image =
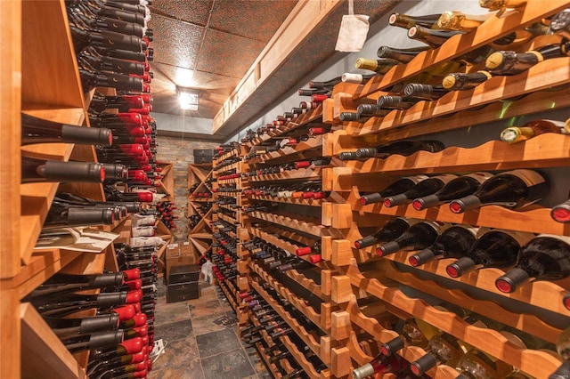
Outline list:
[[[216,1],[209,28],[267,43],[297,1]]]

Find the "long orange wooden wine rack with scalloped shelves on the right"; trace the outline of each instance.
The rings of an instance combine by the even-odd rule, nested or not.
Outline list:
[[[247,273],[249,286],[262,294],[311,350],[322,358],[329,367],[331,377],[350,375],[351,367],[369,362],[378,353],[379,343],[394,338],[397,334],[389,329],[387,322],[394,316],[422,319],[528,375],[547,377],[560,364],[555,354],[522,348],[509,342],[499,332],[468,325],[453,313],[442,312],[419,298],[408,297],[400,287],[408,286],[555,343],[570,321],[570,312],[562,305],[562,298],[570,287],[568,279],[558,282],[536,281],[521,286],[514,294],[502,294],[494,287],[494,279],[503,273],[502,270],[477,270],[462,278],[448,278],[444,268],[452,260],[429,262],[413,268],[408,263],[410,252],[398,252],[380,259],[374,247],[358,250],[354,248],[354,241],[363,237],[363,228],[375,227],[378,230],[379,225],[396,216],[570,235],[570,224],[554,222],[550,218],[550,208],[544,206],[527,206],[519,211],[501,206],[484,206],[464,214],[453,214],[446,205],[416,211],[411,205],[387,208],[382,204],[362,206],[359,202],[359,192],[377,191],[408,174],[567,167],[570,165],[570,137],[543,134],[512,145],[486,141],[469,149],[447,147],[437,153],[419,151],[410,157],[391,156],[365,161],[344,162],[338,156],[342,152],[391,141],[477,128],[497,120],[506,121],[511,117],[568,108],[570,58],[544,60],[525,73],[512,77],[492,77],[471,90],[450,92],[436,101],[419,101],[410,109],[393,110],[385,117],[371,117],[362,123],[343,123],[338,120],[338,115],[343,111],[354,111],[362,101],[378,99],[385,94],[383,89],[391,85],[409,80],[439,63],[489,44],[521,26],[542,20],[567,7],[567,1],[545,3],[528,0],[525,6],[516,11],[509,11],[501,18],[491,17],[476,30],[452,36],[441,47],[419,53],[409,63],[395,66],[384,76],[373,77],[366,85],[336,85],[332,98],[324,101],[318,109],[310,110],[294,123],[279,126],[273,132],[244,144],[247,148],[255,148],[288,136],[291,132],[297,133],[298,128],[308,123],[331,124],[331,132],[322,137],[248,160],[252,168],[263,168],[305,158],[331,157],[328,167],[248,177],[251,189],[294,181],[320,180],[322,189],[330,191],[330,197],[318,200],[290,199],[254,192],[248,195],[251,202],[271,201],[280,204],[280,209],[290,205],[313,208],[313,211],[304,212],[303,215],[282,210],[255,211],[248,214],[250,225],[245,226],[252,238],[262,238],[289,254],[295,254],[299,246],[310,245],[314,238],[321,238],[323,261],[314,268],[320,270],[320,278],[307,278],[298,270],[291,270],[286,275],[321,297],[330,307],[330,313],[327,310],[319,314],[309,309],[305,302],[299,302],[302,299],[291,294],[269,272],[250,261],[247,251],[241,250],[240,254],[243,261],[240,272]],[[537,37],[521,49],[530,50],[547,39],[556,42],[560,37]],[[499,132],[490,140],[498,140]],[[232,181],[239,182],[240,179]],[[315,212],[318,208],[321,208],[320,214]],[[262,283],[288,299],[315,325],[326,331],[327,337],[322,337],[321,341],[309,337],[306,330],[298,327],[295,320],[289,319],[290,315],[273,302]],[[360,299],[376,300],[369,307],[359,305]],[[401,353],[403,358],[412,361],[426,351],[406,347]],[[314,377],[310,370],[307,374]],[[440,365],[429,370],[428,375],[440,379],[454,378],[458,373],[453,367]]]

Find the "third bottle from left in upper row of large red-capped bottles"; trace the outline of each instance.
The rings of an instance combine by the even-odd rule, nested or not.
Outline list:
[[[411,205],[415,210],[420,211],[432,206],[441,206],[456,198],[464,198],[475,193],[476,189],[492,176],[492,173],[485,172],[461,175],[459,178],[447,182],[444,188],[437,190],[436,193],[413,199]]]

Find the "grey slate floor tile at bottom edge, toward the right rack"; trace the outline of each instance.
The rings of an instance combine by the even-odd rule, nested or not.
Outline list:
[[[243,379],[256,372],[242,349],[228,351],[207,359],[202,359],[206,379]]]

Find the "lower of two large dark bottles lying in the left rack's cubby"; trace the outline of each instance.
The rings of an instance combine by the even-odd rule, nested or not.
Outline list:
[[[63,162],[34,157],[21,157],[21,182],[86,181],[102,183],[105,170],[94,162]]]

